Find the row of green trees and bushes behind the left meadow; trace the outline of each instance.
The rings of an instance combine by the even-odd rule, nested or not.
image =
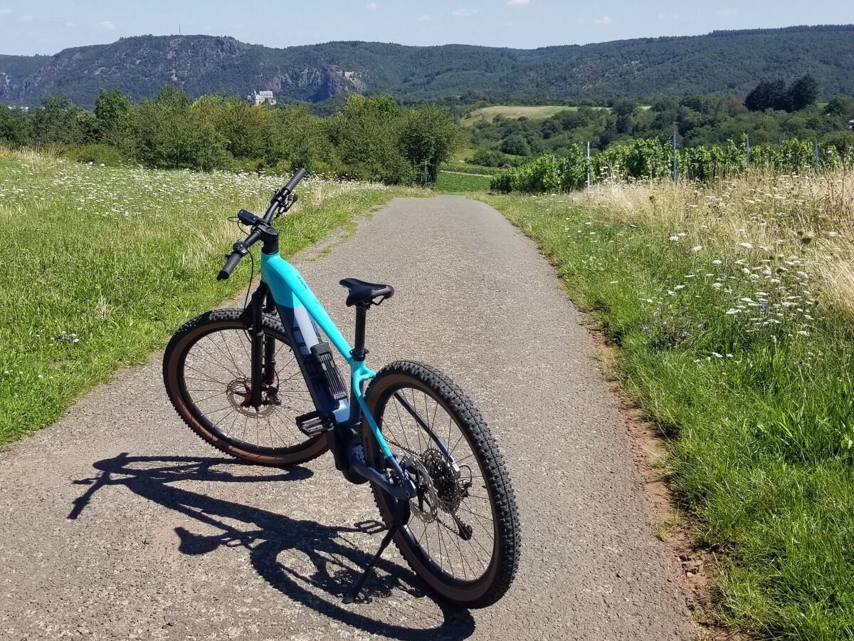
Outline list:
[[[447,109],[404,109],[388,96],[354,94],[328,118],[305,105],[271,109],[238,97],[193,100],[173,85],[137,105],[118,90],[101,91],[92,112],[61,97],[29,114],[0,109],[5,146],[53,145],[85,162],[125,160],[162,169],[288,173],[304,167],[404,184],[423,175],[418,165],[424,160],[435,179],[459,142]]]

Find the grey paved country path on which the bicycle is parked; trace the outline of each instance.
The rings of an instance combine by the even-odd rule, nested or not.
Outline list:
[[[219,456],[175,415],[155,355],[0,454],[0,638],[688,638],[594,342],[534,244],[483,203],[436,197],[310,254],[295,263],[345,335],[338,279],[395,285],[371,311],[372,366],[433,363],[482,409],[524,526],[512,591],[440,606],[389,550],[370,602],[342,605],[381,538],[367,487],[329,456]]]

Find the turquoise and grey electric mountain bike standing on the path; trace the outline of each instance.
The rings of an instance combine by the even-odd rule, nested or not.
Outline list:
[[[348,481],[371,483],[388,529],[345,603],[394,540],[437,597],[491,605],[510,587],[520,550],[504,461],[477,408],[439,370],[411,361],[378,373],[366,367],[367,312],[394,295],[391,285],[340,281],[355,308],[351,348],[279,255],[272,221],[297,202],[305,173],[273,194],[263,216],[237,214],[250,231],[232,245],[217,278],[229,278],[247,255],[254,273],[249,250],[260,242],[260,284],[244,309],[209,311],[178,329],[163,357],[168,397],[193,432],[226,454],[287,466],[331,450]],[[349,393],[322,335],[348,363]]]

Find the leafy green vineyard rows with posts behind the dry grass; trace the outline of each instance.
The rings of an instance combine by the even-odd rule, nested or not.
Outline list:
[[[565,156],[548,154],[518,168],[496,174],[493,191],[542,193],[581,189],[589,180],[629,182],[676,176],[710,181],[728,179],[750,169],[775,173],[802,173],[810,169],[834,169],[854,165],[854,137],[841,135],[834,143],[784,140],[775,145],[751,147],[746,137],[739,143],[712,144],[673,149],[670,141],[641,138],[620,144],[588,159],[582,145]]]

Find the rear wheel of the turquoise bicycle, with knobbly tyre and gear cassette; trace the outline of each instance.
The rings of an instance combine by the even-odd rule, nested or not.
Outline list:
[[[395,362],[371,381],[366,402],[389,448],[418,485],[395,544],[439,597],[467,608],[498,601],[518,567],[520,525],[504,460],[477,408],[444,374]],[[383,469],[367,426],[366,461]],[[391,499],[372,486],[383,519]]]

